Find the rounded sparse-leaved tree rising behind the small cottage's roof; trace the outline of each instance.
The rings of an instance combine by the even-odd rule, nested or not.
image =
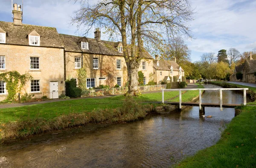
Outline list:
[[[175,57],[178,64],[190,61],[191,50],[189,50],[183,39],[175,37],[170,41],[171,43],[166,45],[166,51],[163,54],[163,59],[172,60],[173,57]]]

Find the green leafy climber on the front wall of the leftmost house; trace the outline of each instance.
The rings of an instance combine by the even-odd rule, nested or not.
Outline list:
[[[0,80],[6,82],[6,90],[8,91],[7,100],[15,101],[15,95],[17,92],[20,92],[25,84],[32,80],[30,73],[25,73],[20,75],[16,70],[9,71],[6,73],[0,74]]]

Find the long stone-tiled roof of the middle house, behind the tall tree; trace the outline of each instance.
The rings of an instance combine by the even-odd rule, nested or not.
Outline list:
[[[105,40],[98,42],[96,39],[67,34],[60,34],[60,36],[66,51],[123,56],[123,53],[120,53],[116,48],[120,42],[110,42]],[[81,46],[79,45],[79,42],[81,41],[88,42],[88,50],[81,49]],[[153,59],[146,50],[143,54],[143,58]]]

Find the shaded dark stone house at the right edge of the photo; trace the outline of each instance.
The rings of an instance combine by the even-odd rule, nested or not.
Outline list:
[[[240,81],[236,79],[237,72],[243,74],[243,82],[255,83],[256,78],[254,76],[254,73],[256,72],[256,60],[253,59],[251,52],[250,57],[246,59],[243,64],[235,67],[234,73],[230,76],[230,81]]]

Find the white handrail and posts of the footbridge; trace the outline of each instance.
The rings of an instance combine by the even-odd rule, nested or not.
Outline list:
[[[199,90],[199,109],[202,109],[202,90],[219,90],[220,91],[220,108],[221,111],[222,108],[222,90],[244,90],[244,105],[246,105],[246,90],[249,90],[248,88],[204,88],[204,89],[162,89],[162,103],[164,104],[164,91],[179,91],[179,99],[180,99],[180,109],[181,109],[181,91],[186,90]]]

